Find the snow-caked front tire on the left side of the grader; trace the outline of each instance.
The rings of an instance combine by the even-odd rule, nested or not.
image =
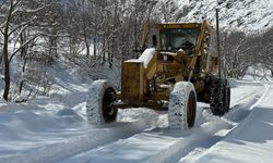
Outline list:
[[[91,85],[86,102],[86,116],[90,124],[103,125],[116,121],[117,109],[115,89],[106,80],[95,80]]]

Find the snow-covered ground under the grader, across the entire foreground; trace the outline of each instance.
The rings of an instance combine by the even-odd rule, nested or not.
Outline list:
[[[206,104],[198,103],[197,126],[186,131],[169,129],[167,113],[147,109],[119,111],[117,123],[100,127],[87,125],[72,110],[0,113],[0,162],[254,162],[263,158],[266,162],[273,150],[272,87],[238,82],[232,89],[230,112],[213,116]],[[257,160],[251,155],[246,160],[249,154]]]

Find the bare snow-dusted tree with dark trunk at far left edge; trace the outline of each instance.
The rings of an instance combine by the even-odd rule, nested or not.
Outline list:
[[[4,92],[3,99],[9,100],[10,91],[10,62],[22,48],[27,46],[37,36],[27,40],[20,41],[20,36],[29,27],[35,26],[37,16],[35,13],[40,12],[47,7],[45,1],[39,0],[8,0],[3,1],[0,11],[0,32],[2,36],[3,53],[3,74],[4,74]],[[13,49],[11,50],[10,47]]]

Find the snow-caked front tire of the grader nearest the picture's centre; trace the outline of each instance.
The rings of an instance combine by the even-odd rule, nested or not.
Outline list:
[[[169,127],[188,129],[194,126],[197,115],[197,93],[189,82],[179,82],[170,92],[168,105]]]

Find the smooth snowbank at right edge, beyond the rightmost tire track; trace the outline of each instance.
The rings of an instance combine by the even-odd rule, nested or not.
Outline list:
[[[273,85],[253,106],[249,116],[194,162],[272,162],[273,149]]]

